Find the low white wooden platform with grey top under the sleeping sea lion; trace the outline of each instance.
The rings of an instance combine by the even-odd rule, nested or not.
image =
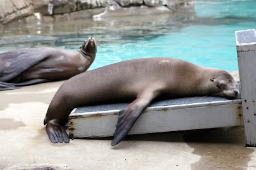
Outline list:
[[[143,111],[129,134],[183,131],[243,125],[241,99],[185,97],[155,101]],[[70,138],[113,136],[120,110],[129,103],[76,108],[69,116]]]

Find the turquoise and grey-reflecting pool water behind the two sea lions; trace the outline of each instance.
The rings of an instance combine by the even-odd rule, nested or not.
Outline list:
[[[107,18],[10,24],[0,29],[0,52],[53,46],[76,50],[93,36],[97,55],[90,69],[143,57],[175,57],[199,66],[238,69],[234,31],[255,29],[256,1],[195,1],[196,13],[173,17]]]

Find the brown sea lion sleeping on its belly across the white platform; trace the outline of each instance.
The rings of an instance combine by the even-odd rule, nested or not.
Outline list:
[[[135,99],[119,113],[111,142],[116,145],[160,94],[235,98],[239,91],[234,78],[221,69],[168,57],[126,60],[78,74],[63,83],[45,115],[46,131],[52,143],[68,143],[63,124],[68,122],[68,115],[74,108]]]

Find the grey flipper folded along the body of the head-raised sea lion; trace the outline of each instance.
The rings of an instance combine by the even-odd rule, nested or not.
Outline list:
[[[8,59],[5,59],[6,56]],[[0,81],[10,81],[48,57],[49,56],[44,52],[44,50],[38,51],[35,49],[24,49],[19,50],[18,52],[12,51],[1,53],[0,62],[3,62],[5,66],[8,63],[9,66],[3,70],[3,76],[0,77]]]

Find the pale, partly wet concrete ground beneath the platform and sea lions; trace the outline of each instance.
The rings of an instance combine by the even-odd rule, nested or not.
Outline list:
[[[43,121],[63,82],[0,91],[0,169],[256,169],[243,127],[53,144]]]

